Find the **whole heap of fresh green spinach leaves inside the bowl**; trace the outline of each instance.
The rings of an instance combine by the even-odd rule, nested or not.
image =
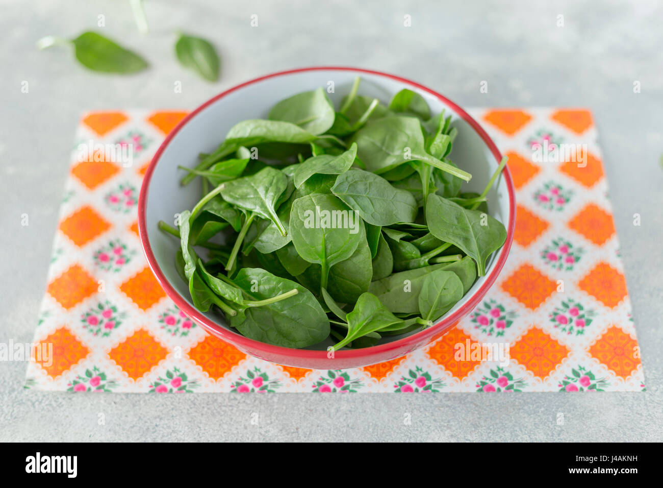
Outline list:
[[[180,238],[200,311],[272,345],[369,347],[429,327],[485,274],[507,236],[486,203],[506,159],[463,193],[451,116],[411,90],[385,105],[358,87],[339,108],[323,88],[282,100],[182,168],[202,198],[160,227]]]

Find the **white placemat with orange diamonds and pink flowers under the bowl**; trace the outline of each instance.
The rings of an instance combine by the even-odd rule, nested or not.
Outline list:
[[[34,333],[42,351],[52,345],[52,360],[29,363],[26,388],[176,393],[644,390],[590,112],[470,112],[509,156],[517,195],[509,260],[483,302],[442,339],[404,358],[349,370],[267,363],[211,337],[181,313],[143,257],[137,198],[156,148],[186,113],[86,114],[78,128]],[[133,149],[133,165],[124,167],[94,149],[80,161],[81,143],[91,148],[125,144]],[[586,145],[584,167],[571,160],[550,161],[556,149],[573,144]],[[495,342],[509,343],[508,365],[472,355],[455,359],[457,345]]]

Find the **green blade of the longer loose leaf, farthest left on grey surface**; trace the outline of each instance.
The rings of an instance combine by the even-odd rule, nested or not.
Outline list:
[[[94,32],[84,32],[72,39],[72,43],[78,62],[93,71],[130,74],[148,66],[135,52]]]

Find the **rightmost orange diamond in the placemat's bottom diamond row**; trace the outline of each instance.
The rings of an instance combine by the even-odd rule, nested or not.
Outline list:
[[[640,365],[637,351],[638,341],[615,325],[589,348],[589,354],[622,378],[631,376]]]

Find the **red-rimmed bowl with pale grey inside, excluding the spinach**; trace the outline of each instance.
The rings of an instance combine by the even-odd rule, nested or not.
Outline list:
[[[432,113],[446,110],[458,129],[453,143],[452,160],[472,173],[466,191],[483,191],[501,161],[495,143],[471,116],[451,100],[420,84],[372,70],[346,67],[314,67],[269,74],[237,85],[215,96],[191,112],[173,129],[152,159],[139,198],[139,233],[143,251],[156,280],[166,294],[191,319],[211,335],[237,347],[243,353],[279,365],[312,369],[343,369],[390,361],[424,347],[442,337],[479,304],[503,268],[515,226],[514,187],[505,168],[488,195],[489,212],[507,228],[504,246],[489,259],[485,276],[475,282],[463,299],[432,327],[405,337],[394,336],[389,342],[365,349],[326,350],[290,349],[249,339],[233,331],[221,315],[198,311],[190,298],[188,287],[178,276],[174,256],[178,240],[161,232],[158,221],[172,222],[175,214],[192,208],[200,199],[200,182],[180,186],[183,175],[178,165],[193,167],[198,153],[209,152],[223,140],[235,123],[253,118],[267,118],[274,103],[319,86],[333,86],[330,98],[338,106],[356,76],[361,76],[360,93],[389,102],[391,97],[409,88],[419,93],[430,105]],[[330,90],[328,89],[328,92]]]

